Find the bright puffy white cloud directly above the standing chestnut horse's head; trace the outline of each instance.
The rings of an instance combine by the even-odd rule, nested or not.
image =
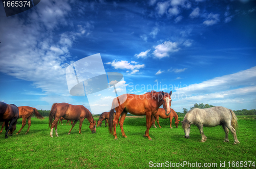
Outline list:
[[[169,53],[170,52],[177,52],[180,50],[180,48],[178,48],[178,43],[177,42],[170,42],[170,41],[165,41],[164,43],[157,45],[155,47],[155,51],[154,51],[154,56],[156,58],[164,58],[164,57],[169,57]]]

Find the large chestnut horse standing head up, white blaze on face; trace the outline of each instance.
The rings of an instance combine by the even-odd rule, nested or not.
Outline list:
[[[123,131],[123,121],[125,119],[125,116],[127,115],[127,112],[130,112],[130,114],[137,116],[146,115],[146,131],[144,136],[147,137],[149,140],[152,140],[148,131],[153,124],[153,115],[156,114],[159,107],[163,105],[166,116],[169,116],[170,105],[172,102],[172,99],[170,98],[171,95],[172,91],[170,91],[169,94],[165,92],[151,91],[145,93],[144,95],[123,94],[115,98],[112,102],[112,109],[110,111],[109,132],[115,136],[115,139],[117,139],[116,124],[119,116],[121,115],[119,125],[121,128],[122,136],[127,137]],[[116,109],[115,118],[114,109]],[[114,133],[112,131],[113,127]]]

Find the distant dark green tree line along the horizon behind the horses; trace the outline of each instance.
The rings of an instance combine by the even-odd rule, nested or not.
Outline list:
[[[190,110],[193,108],[209,108],[209,107],[215,107],[214,105],[211,104],[203,104],[203,103],[199,103],[199,104],[194,104],[193,107],[190,107]],[[48,117],[50,114],[50,110],[38,110],[39,114],[44,116],[44,117]],[[188,112],[187,108],[183,108],[183,112],[178,112],[176,111],[177,115],[179,117],[184,117]],[[243,116],[243,115],[256,115],[256,109],[251,109],[251,110],[247,110],[247,109],[242,109],[242,110],[233,110],[234,114],[236,114],[237,116]],[[34,115],[33,115],[34,116]],[[94,115],[94,116],[100,116],[100,115]],[[127,114],[127,116],[135,116],[132,114]]]

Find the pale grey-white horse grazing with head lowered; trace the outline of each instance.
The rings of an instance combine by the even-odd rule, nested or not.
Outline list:
[[[182,122],[182,127],[185,132],[185,137],[189,138],[190,125],[194,124],[198,127],[200,134],[202,136],[201,142],[205,142],[207,137],[204,135],[203,126],[205,127],[215,127],[222,125],[226,137],[224,142],[229,142],[228,140],[228,129],[231,131],[234,137],[234,144],[240,143],[237,138],[236,129],[238,128],[238,121],[236,115],[231,109],[217,106],[210,108],[194,108],[187,112]]]

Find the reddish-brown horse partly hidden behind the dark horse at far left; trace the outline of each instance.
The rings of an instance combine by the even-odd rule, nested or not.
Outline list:
[[[31,126],[31,117],[33,116],[33,114],[35,113],[35,117],[37,119],[45,119],[44,117],[42,117],[39,112],[37,111],[36,108],[34,107],[29,107],[29,106],[19,106],[18,107],[18,111],[19,111],[19,116],[18,118],[22,118],[22,128],[19,129],[19,131],[16,133],[20,133],[20,131],[22,131],[23,127],[26,125],[26,120],[28,119],[28,130],[25,134],[27,134],[29,132],[29,128]]]

